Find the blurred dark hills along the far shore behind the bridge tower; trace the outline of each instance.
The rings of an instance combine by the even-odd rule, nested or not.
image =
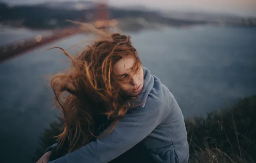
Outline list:
[[[33,30],[54,30],[70,26],[65,20],[92,22],[97,20],[94,8],[77,10],[69,8],[70,4],[48,7],[46,4],[23,5],[9,7],[0,3],[0,24]],[[66,8],[65,8],[66,7]],[[161,27],[190,27],[194,25],[219,25],[236,27],[256,27],[256,18],[240,18],[235,16],[170,12],[146,11],[140,9],[108,8],[109,19],[119,21],[118,27],[125,31],[143,29],[159,29]]]

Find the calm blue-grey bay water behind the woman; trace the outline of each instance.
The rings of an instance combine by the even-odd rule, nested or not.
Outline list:
[[[0,45],[45,31],[1,30]],[[210,27],[128,33],[143,66],[176,97],[186,118],[256,94],[256,28]],[[68,66],[58,50],[86,39],[77,35],[0,64],[0,162],[29,163],[52,109],[47,75]]]

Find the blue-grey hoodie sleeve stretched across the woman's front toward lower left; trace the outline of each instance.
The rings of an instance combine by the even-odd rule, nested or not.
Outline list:
[[[161,103],[132,109],[109,135],[49,163],[107,163],[143,140],[165,117]]]

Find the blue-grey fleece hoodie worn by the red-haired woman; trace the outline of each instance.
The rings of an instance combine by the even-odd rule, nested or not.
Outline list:
[[[131,109],[110,135],[49,163],[107,163],[140,141],[156,163],[187,163],[189,145],[180,107],[157,77],[146,68],[143,73],[144,85],[139,98],[140,103],[146,103]]]

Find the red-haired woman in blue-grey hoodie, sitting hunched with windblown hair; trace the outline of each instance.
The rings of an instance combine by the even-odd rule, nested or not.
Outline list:
[[[64,118],[58,146],[68,140],[69,151],[49,163],[108,163],[139,142],[156,163],[188,162],[181,109],[159,78],[141,65],[129,36],[105,33],[77,58],[64,53],[72,66],[55,75],[51,86]],[[97,134],[95,126],[104,124],[95,123],[100,115],[111,124]]]

